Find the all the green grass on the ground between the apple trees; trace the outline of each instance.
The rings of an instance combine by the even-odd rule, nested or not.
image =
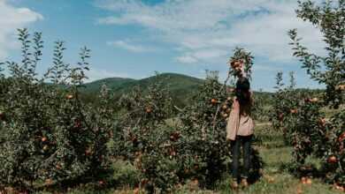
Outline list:
[[[262,143],[258,145],[258,149],[261,157],[265,161],[263,177],[261,177],[257,183],[251,184],[246,189],[238,190],[236,193],[343,193],[338,190],[334,190],[332,185],[322,183],[318,178],[313,178],[311,185],[302,184],[299,178],[291,175],[288,172],[288,169],[283,168],[290,160],[292,160],[292,149],[291,147],[284,145],[280,132],[272,131],[269,123],[258,124],[256,135],[262,140]],[[134,193],[134,167],[130,166],[126,162],[116,162],[114,163],[113,168],[115,173],[112,179],[116,179],[119,182],[117,186],[118,188],[102,190],[84,185],[80,188],[69,190],[68,193]],[[177,190],[175,193],[234,193],[234,191],[231,190],[229,183],[230,175],[225,173],[222,180],[214,186],[213,190],[201,190],[196,185],[188,183],[182,186],[180,190]]]

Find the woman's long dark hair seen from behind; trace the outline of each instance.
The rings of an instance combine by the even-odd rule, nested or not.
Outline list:
[[[250,83],[248,78],[239,78],[236,82],[235,95],[240,104],[247,104],[250,101]]]

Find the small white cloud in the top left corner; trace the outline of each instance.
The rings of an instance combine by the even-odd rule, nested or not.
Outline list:
[[[18,8],[9,4],[6,0],[0,0],[0,59],[8,56],[8,51],[15,48],[14,34],[17,28],[43,19],[40,13],[27,8]]]

